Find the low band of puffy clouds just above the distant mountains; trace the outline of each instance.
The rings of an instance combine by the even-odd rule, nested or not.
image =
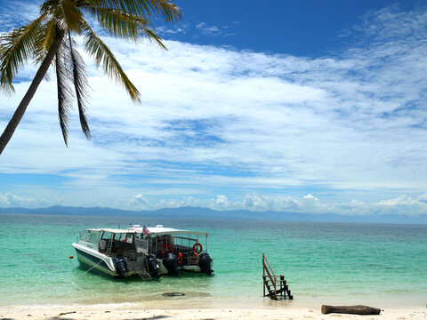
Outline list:
[[[0,208],[39,208],[53,205],[76,206],[63,199],[39,199],[16,196],[11,193],[0,193]],[[100,204],[108,206],[109,204]],[[246,195],[241,200],[229,200],[227,196],[218,195],[212,199],[197,199],[195,197],[169,198],[160,201],[149,201],[145,196],[138,194],[129,199],[115,199],[110,205],[117,205],[122,210],[157,210],[162,208],[203,207],[218,211],[248,210],[253,212],[285,212],[285,213],[334,213],[350,216],[371,215],[399,215],[409,217],[427,216],[427,194],[412,198],[399,196],[391,200],[383,200],[377,203],[363,203],[350,201],[349,203],[326,203],[318,198],[308,195],[302,197],[293,196],[266,196]]]

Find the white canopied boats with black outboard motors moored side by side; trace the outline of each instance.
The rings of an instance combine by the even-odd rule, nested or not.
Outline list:
[[[114,277],[158,278],[181,271],[212,275],[207,233],[175,228],[87,228],[72,244],[82,266]]]

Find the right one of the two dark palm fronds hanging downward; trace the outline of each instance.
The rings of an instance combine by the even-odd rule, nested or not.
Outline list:
[[[83,61],[80,54],[75,49],[76,44],[71,38],[70,33],[68,32],[68,45],[69,45],[69,54],[70,54],[70,69],[72,71],[72,81],[74,88],[76,90],[77,106],[78,106],[78,116],[80,118],[80,125],[83,132],[85,133],[86,139],[90,140],[91,130],[89,129],[89,124],[87,124],[86,117],[86,106],[88,88],[89,84],[87,82],[87,75],[85,72],[85,62]]]

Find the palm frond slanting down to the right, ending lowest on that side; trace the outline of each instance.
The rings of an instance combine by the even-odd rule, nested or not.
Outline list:
[[[85,51],[95,60],[97,66],[102,65],[104,72],[116,80],[117,84],[122,84],[134,102],[141,102],[141,93],[138,92],[131,80],[126,76],[125,71],[116,60],[114,54],[104,44],[99,36],[87,26],[85,34]]]

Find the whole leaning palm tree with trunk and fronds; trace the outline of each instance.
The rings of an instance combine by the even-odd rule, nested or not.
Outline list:
[[[44,0],[36,20],[1,36],[0,88],[4,92],[14,92],[12,80],[25,62],[35,60],[40,67],[0,137],[0,154],[51,65],[56,72],[60,129],[66,146],[69,109],[74,95],[82,130],[87,139],[91,138],[85,108],[89,88],[85,63],[77,52],[73,36],[83,36],[85,52],[93,57],[96,65],[101,66],[117,84],[122,84],[134,102],[140,102],[140,92],[125,75],[109,47],[89,26],[88,19],[97,20],[111,36],[134,43],[149,39],[165,49],[162,39],[153,30],[150,22],[153,18],[176,21],[181,19],[181,12],[173,0]]]

